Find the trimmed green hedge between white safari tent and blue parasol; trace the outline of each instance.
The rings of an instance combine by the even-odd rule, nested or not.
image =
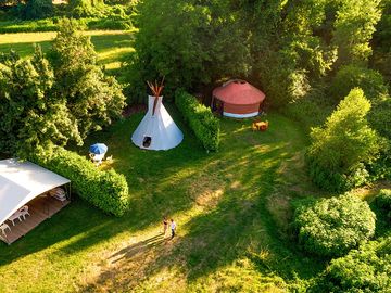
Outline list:
[[[125,176],[114,170],[99,170],[87,158],[62,148],[56,148],[50,158],[30,160],[68,178],[73,191],[102,211],[122,216],[128,209],[129,192]]]

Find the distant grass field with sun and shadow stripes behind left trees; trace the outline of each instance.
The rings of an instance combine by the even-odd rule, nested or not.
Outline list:
[[[131,33],[122,30],[91,30],[85,31],[91,36],[91,41],[98,53],[99,63],[106,69],[115,72],[119,68],[122,59],[134,51],[131,48]],[[16,51],[25,58],[34,53],[34,43],[48,51],[56,33],[17,33],[2,34],[0,36],[0,52]]]

